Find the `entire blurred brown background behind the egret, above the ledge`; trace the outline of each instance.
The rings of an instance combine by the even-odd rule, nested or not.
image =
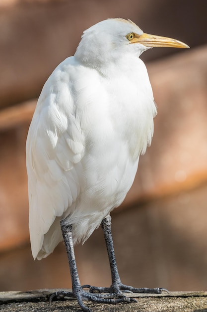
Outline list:
[[[25,141],[44,82],[73,55],[82,31],[130,18],[191,49],[141,55],[158,107],[112,231],[123,283],[207,290],[207,5],[204,0],[0,1],[0,291],[70,288],[63,244],[34,261],[28,232]],[[75,248],[82,284],[111,283],[101,229]]]

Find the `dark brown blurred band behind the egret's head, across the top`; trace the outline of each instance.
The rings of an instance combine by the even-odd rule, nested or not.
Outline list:
[[[0,4],[0,106],[37,97],[52,70],[73,55],[82,31],[111,17],[130,18],[148,33],[207,42],[203,0],[16,0]],[[6,5],[6,3],[8,3]],[[154,49],[146,61],[175,49]]]

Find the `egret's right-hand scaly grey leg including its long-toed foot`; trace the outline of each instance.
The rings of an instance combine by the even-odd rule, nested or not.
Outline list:
[[[149,294],[160,294],[162,291],[167,291],[164,288],[135,288],[132,286],[127,286],[122,284],[121,279],[119,277],[119,272],[117,269],[115,252],[114,252],[114,244],[111,233],[111,216],[108,214],[101,222],[101,227],[103,230],[106,248],[109,256],[109,263],[111,269],[111,278],[112,285],[110,288],[104,287],[93,287],[91,286],[90,292],[103,292],[103,293],[149,293]]]

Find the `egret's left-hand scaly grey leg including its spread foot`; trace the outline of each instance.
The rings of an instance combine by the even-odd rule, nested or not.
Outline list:
[[[80,280],[79,280],[78,273],[77,273],[77,266],[76,266],[74,248],[73,248],[73,242],[72,242],[72,225],[71,224],[65,225],[64,222],[61,222],[61,229],[62,229],[63,239],[66,245],[66,251],[67,251],[68,259],[69,259],[70,275],[71,275],[71,281],[72,281],[72,292],[67,292],[67,291],[62,291],[62,290],[56,292],[50,297],[50,304],[54,297],[56,297],[57,299],[61,299],[61,298],[67,299],[69,297],[75,297],[82,311],[91,312],[91,310],[83,304],[83,300],[90,300],[95,303],[104,303],[104,304],[133,302],[134,300],[132,298],[127,298],[123,296],[122,298],[120,298],[119,296],[117,296],[116,298],[112,294],[93,294],[93,293],[89,293],[83,290],[83,288],[80,285]]]

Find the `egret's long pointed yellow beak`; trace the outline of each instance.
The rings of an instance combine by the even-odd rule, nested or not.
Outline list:
[[[161,37],[156,35],[149,35],[143,33],[142,35],[135,34],[131,43],[141,43],[147,47],[172,47],[172,48],[189,48],[187,44],[176,39]]]

